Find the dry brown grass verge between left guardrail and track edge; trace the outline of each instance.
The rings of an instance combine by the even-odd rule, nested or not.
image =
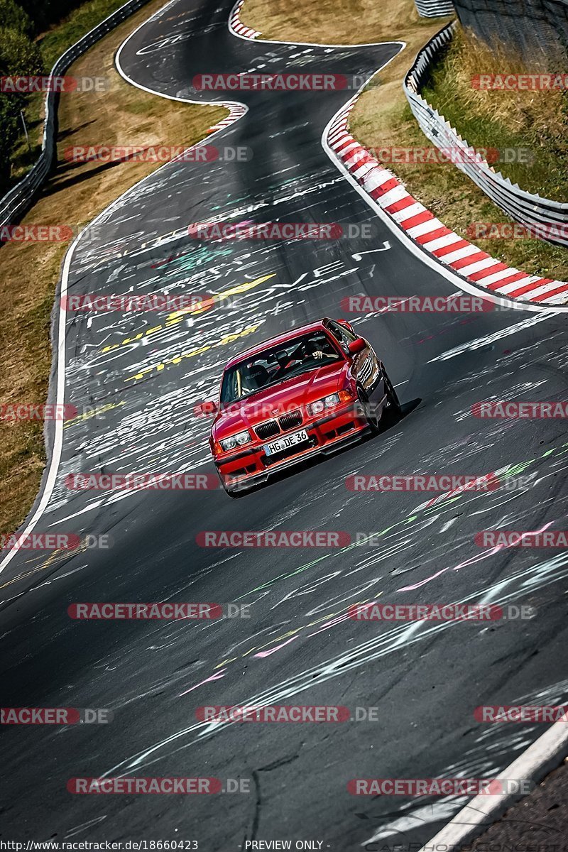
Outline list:
[[[66,224],[77,230],[112,199],[152,172],[152,163],[127,162],[104,169],[100,163],[68,164],[72,145],[190,145],[227,115],[222,107],[200,107],[149,95],[125,83],[114,70],[118,45],[164,5],[148,3],[72,66],[69,74],[107,76],[110,89],[99,95],[69,93],[60,102],[60,167],[23,220],[26,224]],[[11,243],[0,248],[0,350],[3,403],[42,403],[47,396],[51,348],[49,317],[60,264],[68,245]],[[32,505],[45,465],[41,423],[0,421],[0,533],[20,525]]]

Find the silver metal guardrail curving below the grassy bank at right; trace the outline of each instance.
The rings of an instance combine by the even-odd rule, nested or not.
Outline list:
[[[528,226],[568,226],[568,204],[543,199],[540,195],[527,193],[518,184],[503,177],[481,156],[475,153],[468,142],[462,139],[457,130],[450,126],[443,115],[435,110],[420,95],[422,83],[427,77],[432,60],[439,51],[451,41],[456,22],[445,26],[434,36],[416,56],[414,65],[404,78],[404,94],[416,121],[425,136],[440,149],[449,150],[456,168],[464,172],[483,190],[491,201],[500,207],[515,222]],[[558,235],[547,233],[548,242],[556,245],[568,245],[565,234],[568,227],[562,228]],[[539,232],[540,233],[540,232]]]

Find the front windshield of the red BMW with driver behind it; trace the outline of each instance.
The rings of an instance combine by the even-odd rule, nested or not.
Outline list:
[[[242,400],[341,357],[325,331],[293,337],[229,367],[221,383],[221,405]]]

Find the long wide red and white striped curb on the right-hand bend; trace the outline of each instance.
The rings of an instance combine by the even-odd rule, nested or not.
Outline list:
[[[496,296],[542,306],[566,304],[568,283],[508,267],[445,227],[416,201],[398,177],[350,134],[349,113],[355,100],[343,107],[331,122],[327,144],[359,186],[415,243],[462,278]]]

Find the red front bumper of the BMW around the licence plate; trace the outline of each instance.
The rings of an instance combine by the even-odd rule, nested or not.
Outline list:
[[[302,423],[283,435],[297,432],[299,429],[306,429],[309,443],[304,444],[297,452],[295,448],[291,448],[282,454],[283,458],[267,457],[264,453],[264,445],[268,441],[259,441],[255,446],[247,447],[232,455],[227,454],[226,458],[215,459],[215,467],[223,485],[231,491],[247,490],[254,485],[266,482],[271,476],[294,464],[314,456],[330,455],[344,446],[357,443],[370,431],[365,418],[356,412],[353,402],[337,408],[324,417]]]

